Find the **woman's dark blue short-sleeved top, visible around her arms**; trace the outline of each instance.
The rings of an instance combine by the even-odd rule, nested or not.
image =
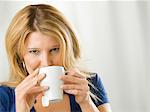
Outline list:
[[[92,98],[94,104],[99,106],[104,103],[108,103],[107,94],[105,92],[102,81],[97,74],[93,74],[89,80],[89,87],[91,92],[96,95],[96,98]],[[74,95],[68,94],[70,99],[71,112],[81,112],[79,104],[76,103]],[[15,91],[14,88],[7,86],[0,86],[0,112],[16,112],[15,111]],[[35,112],[34,107],[30,112]]]

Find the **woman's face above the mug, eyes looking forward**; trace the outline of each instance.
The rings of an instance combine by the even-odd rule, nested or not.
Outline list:
[[[53,37],[33,32],[25,40],[23,59],[29,74],[39,67],[62,66],[60,44]]]

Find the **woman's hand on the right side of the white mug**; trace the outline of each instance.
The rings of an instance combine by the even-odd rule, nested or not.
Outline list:
[[[60,79],[64,81],[61,88],[66,93],[75,95],[78,104],[90,101],[88,81],[77,69],[69,70],[67,75],[63,75]]]

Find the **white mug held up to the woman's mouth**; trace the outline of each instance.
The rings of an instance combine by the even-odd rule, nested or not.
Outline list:
[[[63,90],[60,88],[63,81],[59,79],[64,74],[62,66],[47,66],[39,69],[39,74],[46,74],[41,81],[41,86],[49,86],[49,89],[42,96],[42,105],[48,106],[49,102],[58,102],[63,100]]]

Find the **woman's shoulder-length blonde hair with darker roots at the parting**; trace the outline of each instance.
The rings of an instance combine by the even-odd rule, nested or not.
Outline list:
[[[10,63],[9,86],[17,86],[27,75],[23,67],[23,49],[27,36],[32,32],[41,32],[56,38],[60,43],[61,58],[65,69],[76,66],[80,58],[77,36],[63,16],[51,5],[28,5],[13,18],[6,33],[6,51]]]

